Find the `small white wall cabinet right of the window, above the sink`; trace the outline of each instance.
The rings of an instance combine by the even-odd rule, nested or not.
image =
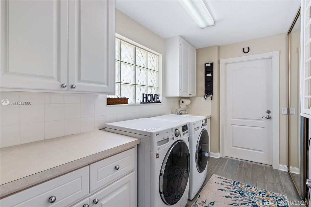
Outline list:
[[[197,50],[180,36],[165,39],[165,96],[196,96]]]

